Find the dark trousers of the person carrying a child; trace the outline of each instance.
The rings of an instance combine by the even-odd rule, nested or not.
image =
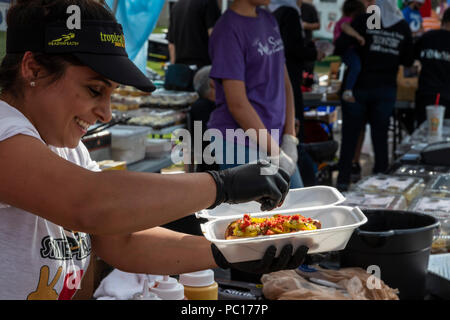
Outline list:
[[[342,141],[339,157],[338,185],[350,184],[352,161],[361,130],[366,122],[375,153],[374,173],[385,172],[389,166],[388,128],[397,98],[396,87],[356,89],[355,103],[342,101]]]

